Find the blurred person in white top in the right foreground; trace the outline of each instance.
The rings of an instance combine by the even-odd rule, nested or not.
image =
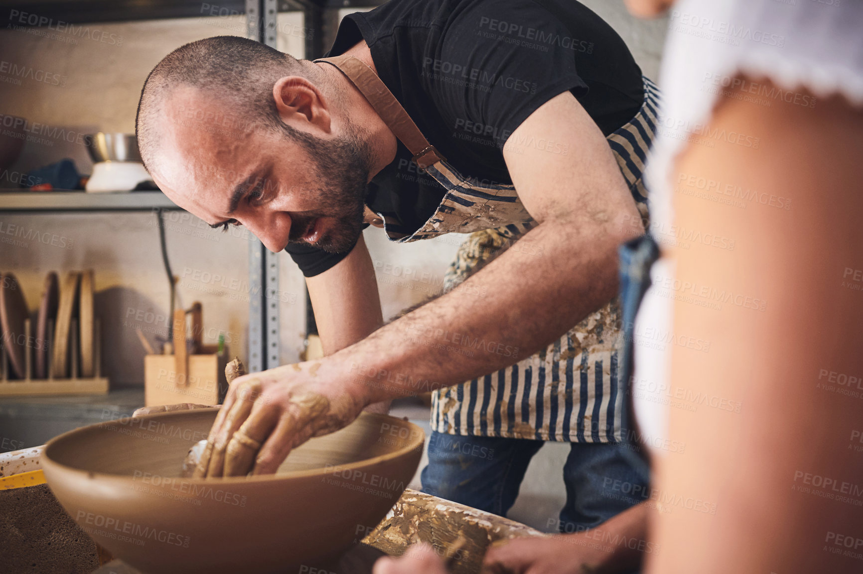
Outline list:
[[[654,477],[614,520],[646,510],[649,573],[863,571],[863,0],[627,4],[671,18],[631,381]],[[486,564],[616,571],[589,541]]]

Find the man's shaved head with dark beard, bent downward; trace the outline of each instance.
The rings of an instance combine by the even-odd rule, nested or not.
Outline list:
[[[213,227],[243,221],[272,251],[304,238],[331,253],[350,251],[362,230],[374,136],[361,137],[343,109],[332,137],[294,128],[282,119],[293,109],[275,90],[285,97],[332,90],[332,103],[343,104],[340,87],[318,65],[255,41],[221,36],[175,50],[150,72],[142,91],[137,134],[145,165],[170,197],[217,221]],[[266,165],[248,172],[252,162]],[[272,219],[220,215],[242,215],[249,200],[265,195],[286,200],[275,188],[286,181],[294,202],[303,203],[274,204]],[[227,209],[220,209],[225,191]],[[317,218],[331,221],[312,239]]]

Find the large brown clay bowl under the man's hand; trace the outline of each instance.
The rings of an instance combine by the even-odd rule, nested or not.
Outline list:
[[[383,519],[425,434],[362,414],[299,446],[272,476],[180,477],[217,409],[82,427],[49,441],[48,486],[93,540],[148,574],[297,572],[325,565]],[[299,568],[302,570],[302,568]]]

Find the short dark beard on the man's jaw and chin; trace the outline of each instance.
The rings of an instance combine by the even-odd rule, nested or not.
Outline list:
[[[294,141],[306,148],[315,163],[318,181],[319,209],[315,213],[294,216],[288,243],[312,246],[327,253],[346,253],[362,234],[363,211],[368,193],[371,153],[369,146],[353,126],[339,140],[321,140],[281,124]],[[301,238],[319,217],[336,220],[333,229],[313,244]]]

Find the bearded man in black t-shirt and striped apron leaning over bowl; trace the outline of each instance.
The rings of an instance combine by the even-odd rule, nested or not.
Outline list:
[[[557,440],[552,522],[631,507],[603,486],[647,480],[621,446],[617,249],[644,231],[657,97],[573,0],[392,0],[316,61],[236,37],[170,53],[138,110],[148,170],[212,227],[291,254],[327,355],[237,378],[198,476],[274,472],[369,405],[434,390],[424,490],[504,515]],[[446,293],[382,327],[369,225],[470,234]]]

